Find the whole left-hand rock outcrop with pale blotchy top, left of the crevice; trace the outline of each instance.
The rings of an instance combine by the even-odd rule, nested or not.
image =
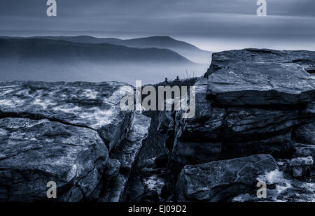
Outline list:
[[[123,201],[150,125],[141,113],[120,110],[130,87],[1,82],[0,89],[1,201],[95,201],[104,194]],[[51,181],[57,199],[46,196]]]

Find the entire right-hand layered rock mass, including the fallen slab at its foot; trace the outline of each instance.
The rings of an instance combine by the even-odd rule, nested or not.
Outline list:
[[[195,117],[160,114],[161,132],[173,141],[167,187],[179,192],[175,200],[261,201],[252,190],[261,175],[285,188],[270,189],[264,201],[314,201],[314,66],[310,51],[214,53],[204,78],[195,82]],[[252,181],[239,189],[233,173],[241,168],[231,164],[251,164],[257,154],[281,166],[250,172]],[[273,173],[276,180],[269,179]],[[242,189],[248,194],[233,199]]]

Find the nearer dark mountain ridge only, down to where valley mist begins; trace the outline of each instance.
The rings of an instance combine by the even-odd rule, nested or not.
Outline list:
[[[188,59],[172,50],[158,48],[128,48],[109,43],[72,43],[43,38],[0,39],[0,57],[82,59],[102,62],[180,62]]]

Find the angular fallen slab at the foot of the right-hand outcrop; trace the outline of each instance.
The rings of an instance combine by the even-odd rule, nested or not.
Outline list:
[[[177,201],[229,201],[255,187],[259,175],[278,168],[269,154],[187,165],[177,182]]]

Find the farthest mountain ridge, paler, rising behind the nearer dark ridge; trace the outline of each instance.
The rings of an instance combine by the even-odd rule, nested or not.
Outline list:
[[[91,36],[39,36],[33,38],[63,40],[74,43],[111,43],[113,45],[125,45],[130,48],[161,48],[173,50],[193,62],[209,64],[211,61],[211,52],[200,50],[200,48],[197,48],[190,43],[177,41],[169,36],[152,36],[128,40],[121,40],[118,38],[94,38]]]

